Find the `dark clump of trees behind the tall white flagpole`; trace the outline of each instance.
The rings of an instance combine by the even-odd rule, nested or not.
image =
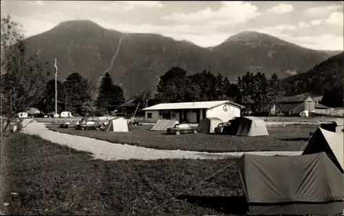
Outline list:
[[[102,116],[125,102],[122,88],[112,82],[109,73],[105,73],[100,85],[98,79],[87,80],[79,73],[71,73],[65,82],[56,82],[56,92],[58,113]],[[35,107],[43,113],[55,112],[55,80],[47,82]]]

